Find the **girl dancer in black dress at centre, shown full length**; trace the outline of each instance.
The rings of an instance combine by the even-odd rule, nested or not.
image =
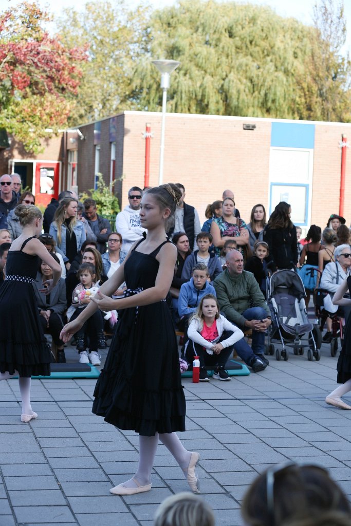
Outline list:
[[[111,493],[131,495],[151,489],[158,440],[183,469],[190,489],[199,493],[199,454],[187,451],[175,431],[185,431],[185,397],[178,347],[165,298],[171,287],[176,247],[166,237],[166,221],[181,197],[175,185],[147,190],[141,224],[146,238],[136,242],[123,264],[99,289],[91,303],[62,330],[68,341],[97,308],[118,309],[118,323],[104,370],[94,391],[93,412],[119,429],[139,433],[139,463],[132,479]],[[112,299],[126,281],[125,297]]]

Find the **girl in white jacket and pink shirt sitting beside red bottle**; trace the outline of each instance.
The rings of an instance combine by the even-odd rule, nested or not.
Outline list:
[[[244,338],[242,330],[219,314],[217,298],[206,294],[190,319],[185,358],[192,363],[194,356],[200,360],[200,382],[208,382],[207,366],[215,366],[213,377],[230,380],[224,369],[234,344]]]

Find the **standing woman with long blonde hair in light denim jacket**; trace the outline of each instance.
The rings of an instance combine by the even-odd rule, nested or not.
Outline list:
[[[86,239],[85,228],[82,221],[77,221],[78,201],[73,197],[65,197],[50,225],[49,233],[56,241],[57,247],[65,255],[66,269],[69,270],[73,259]]]

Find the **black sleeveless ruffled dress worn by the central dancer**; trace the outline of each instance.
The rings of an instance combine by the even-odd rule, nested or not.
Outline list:
[[[151,254],[134,248],[124,267],[126,296],[155,286],[159,267],[156,255],[167,242]],[[156,432],[185,431],[178,346],[165,300],[119,310],[94,397],[93,413],[119,429],[149,437]]]

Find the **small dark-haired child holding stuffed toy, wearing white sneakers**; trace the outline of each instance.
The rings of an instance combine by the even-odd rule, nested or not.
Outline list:
[[[77,278],[81,282],[73,291],[72,306],[76,308],[71,320],[76,319],[79,314],[89,305],[91,298],[98,291],[96,286],[96,270],[94,265],[83,263],[78,271]],[[89,337],[89,353],[86,350],[85,336]],[[104,339],[104,322],[102,313],[96,311],[89,319],[89,323],[84,323],[81,330],[77,332],[77,350],[79,351],[79,363],[92,363],[100,365],[101,356],[97,352],[99,341]]]

